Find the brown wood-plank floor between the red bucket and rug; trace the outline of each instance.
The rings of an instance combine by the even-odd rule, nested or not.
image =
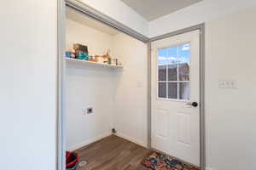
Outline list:
[[[79,170],[141,170],[141,162],[152,150],[111,135],[76,150],[87,161]]]

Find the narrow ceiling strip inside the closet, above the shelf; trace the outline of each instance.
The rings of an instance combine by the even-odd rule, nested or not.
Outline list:
[[[105,32],[109,35],[115,35],[115,34],[119,33],[119,31],[111,28],[110,26],[102,24],[102,22],[99,22],[97,20],[91,19],[90,17],[78,12],[77,10],[75,10],[73,8],[67,7],[66,15],[67,15],[67,19],[69,19],[69,20],[79,22],[80,24],[83,24],[84,26],[89,26],[98,31]]]

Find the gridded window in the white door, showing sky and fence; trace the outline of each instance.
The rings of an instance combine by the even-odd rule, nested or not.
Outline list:
[[[160,48],[158,57],[158,98],[189,100],[190,43]]]

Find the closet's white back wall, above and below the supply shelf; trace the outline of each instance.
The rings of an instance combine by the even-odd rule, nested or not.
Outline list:
[[[107,33],[73,20],[67,20],[66,31],[67,49],[79,42],[88,46],[90,54],[113,51],[113,36]],[[114,73],[67,63],[66,75],[67,149],[73,150],[111,133]],[[88,107],[93,107],[93,115],[83,115]]]

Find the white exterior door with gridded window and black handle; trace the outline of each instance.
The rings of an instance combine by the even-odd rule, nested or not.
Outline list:
[[[200,166],[200,31],[152,42],[152,148]]]

